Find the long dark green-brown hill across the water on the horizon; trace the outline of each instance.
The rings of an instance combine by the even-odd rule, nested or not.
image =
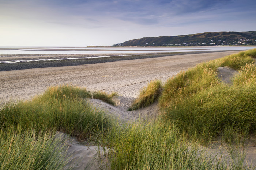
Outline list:
[[[256,45],[256,31],[205,32],[178,36],[145,37],[114,46],[214,46]]]

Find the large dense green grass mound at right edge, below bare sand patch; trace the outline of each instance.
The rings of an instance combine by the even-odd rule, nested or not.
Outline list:
[[[203,143],[228,132],[248,134],[256,131],[256,86],[215,86],[165,110],[165,120]],[[227,134],[227,133],[226,133]]]

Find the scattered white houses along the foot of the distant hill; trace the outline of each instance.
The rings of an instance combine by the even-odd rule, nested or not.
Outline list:
[[[256,39],[233,39],[233,40],[210,40],[208,42],[202,43],[179,43],[179,44],[169,44],[169,43],[145,43],[139,46],[248,46],[256,45]],[[121,43],[114,44],[113,46],[123,46]]]

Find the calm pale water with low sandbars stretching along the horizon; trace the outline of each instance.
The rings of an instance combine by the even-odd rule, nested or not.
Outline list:
[[[192,52],[192,51],[226,51],[226,50],[249,50],[255,47],[247,46],[207,46],[207,47],[0,47],[0,63],[30,62],[41,60],[64,60],[61,59],[37,59],[37,60],[9,60],[1,61],[4,57],[19,57],[33,54],[70,54],[67,59],[110,57],[118,54],[142,54],[161,52]],[[72,54],[105,54],[97,57],[72,57]],[[106,54],[111,54],[106,56]],[[114,55],[113,55],[114,54]],[[118,55],[119,56],[119,55]]]

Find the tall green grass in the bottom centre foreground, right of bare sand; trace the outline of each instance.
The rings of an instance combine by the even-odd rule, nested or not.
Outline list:
[[[227,151],[224,159],[196,143],[188,144],[180,131],[174,123],[135,122],[114,126],[101,141],[111,148],[111,169],[248,169],[243,155]]]

